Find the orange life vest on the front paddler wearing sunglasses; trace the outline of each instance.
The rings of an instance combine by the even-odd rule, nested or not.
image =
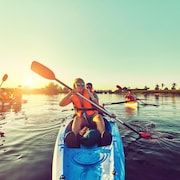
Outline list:
[[[84,90],[82,95],[90,100],[89,93],[86,89]],[[79,97],[76,94],[74,94],[72,96],[72,102],[73,102],[73,105],[75,108],[75,113],[78,116],[81,116],[83,114],[83,112],[86,112],[86,114],[88,116],[91,116],[91,115],[97,113],[97,110],[95,110],[95,108],[93,107],[93,105],[91,103],[89,103],[88,101]]]

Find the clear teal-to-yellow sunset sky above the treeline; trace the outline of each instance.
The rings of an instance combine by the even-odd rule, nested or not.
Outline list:
[[[179,89],[179,17],[179,0],[0,0],[2,87],[46,86],[38,61],[68,86]]]

